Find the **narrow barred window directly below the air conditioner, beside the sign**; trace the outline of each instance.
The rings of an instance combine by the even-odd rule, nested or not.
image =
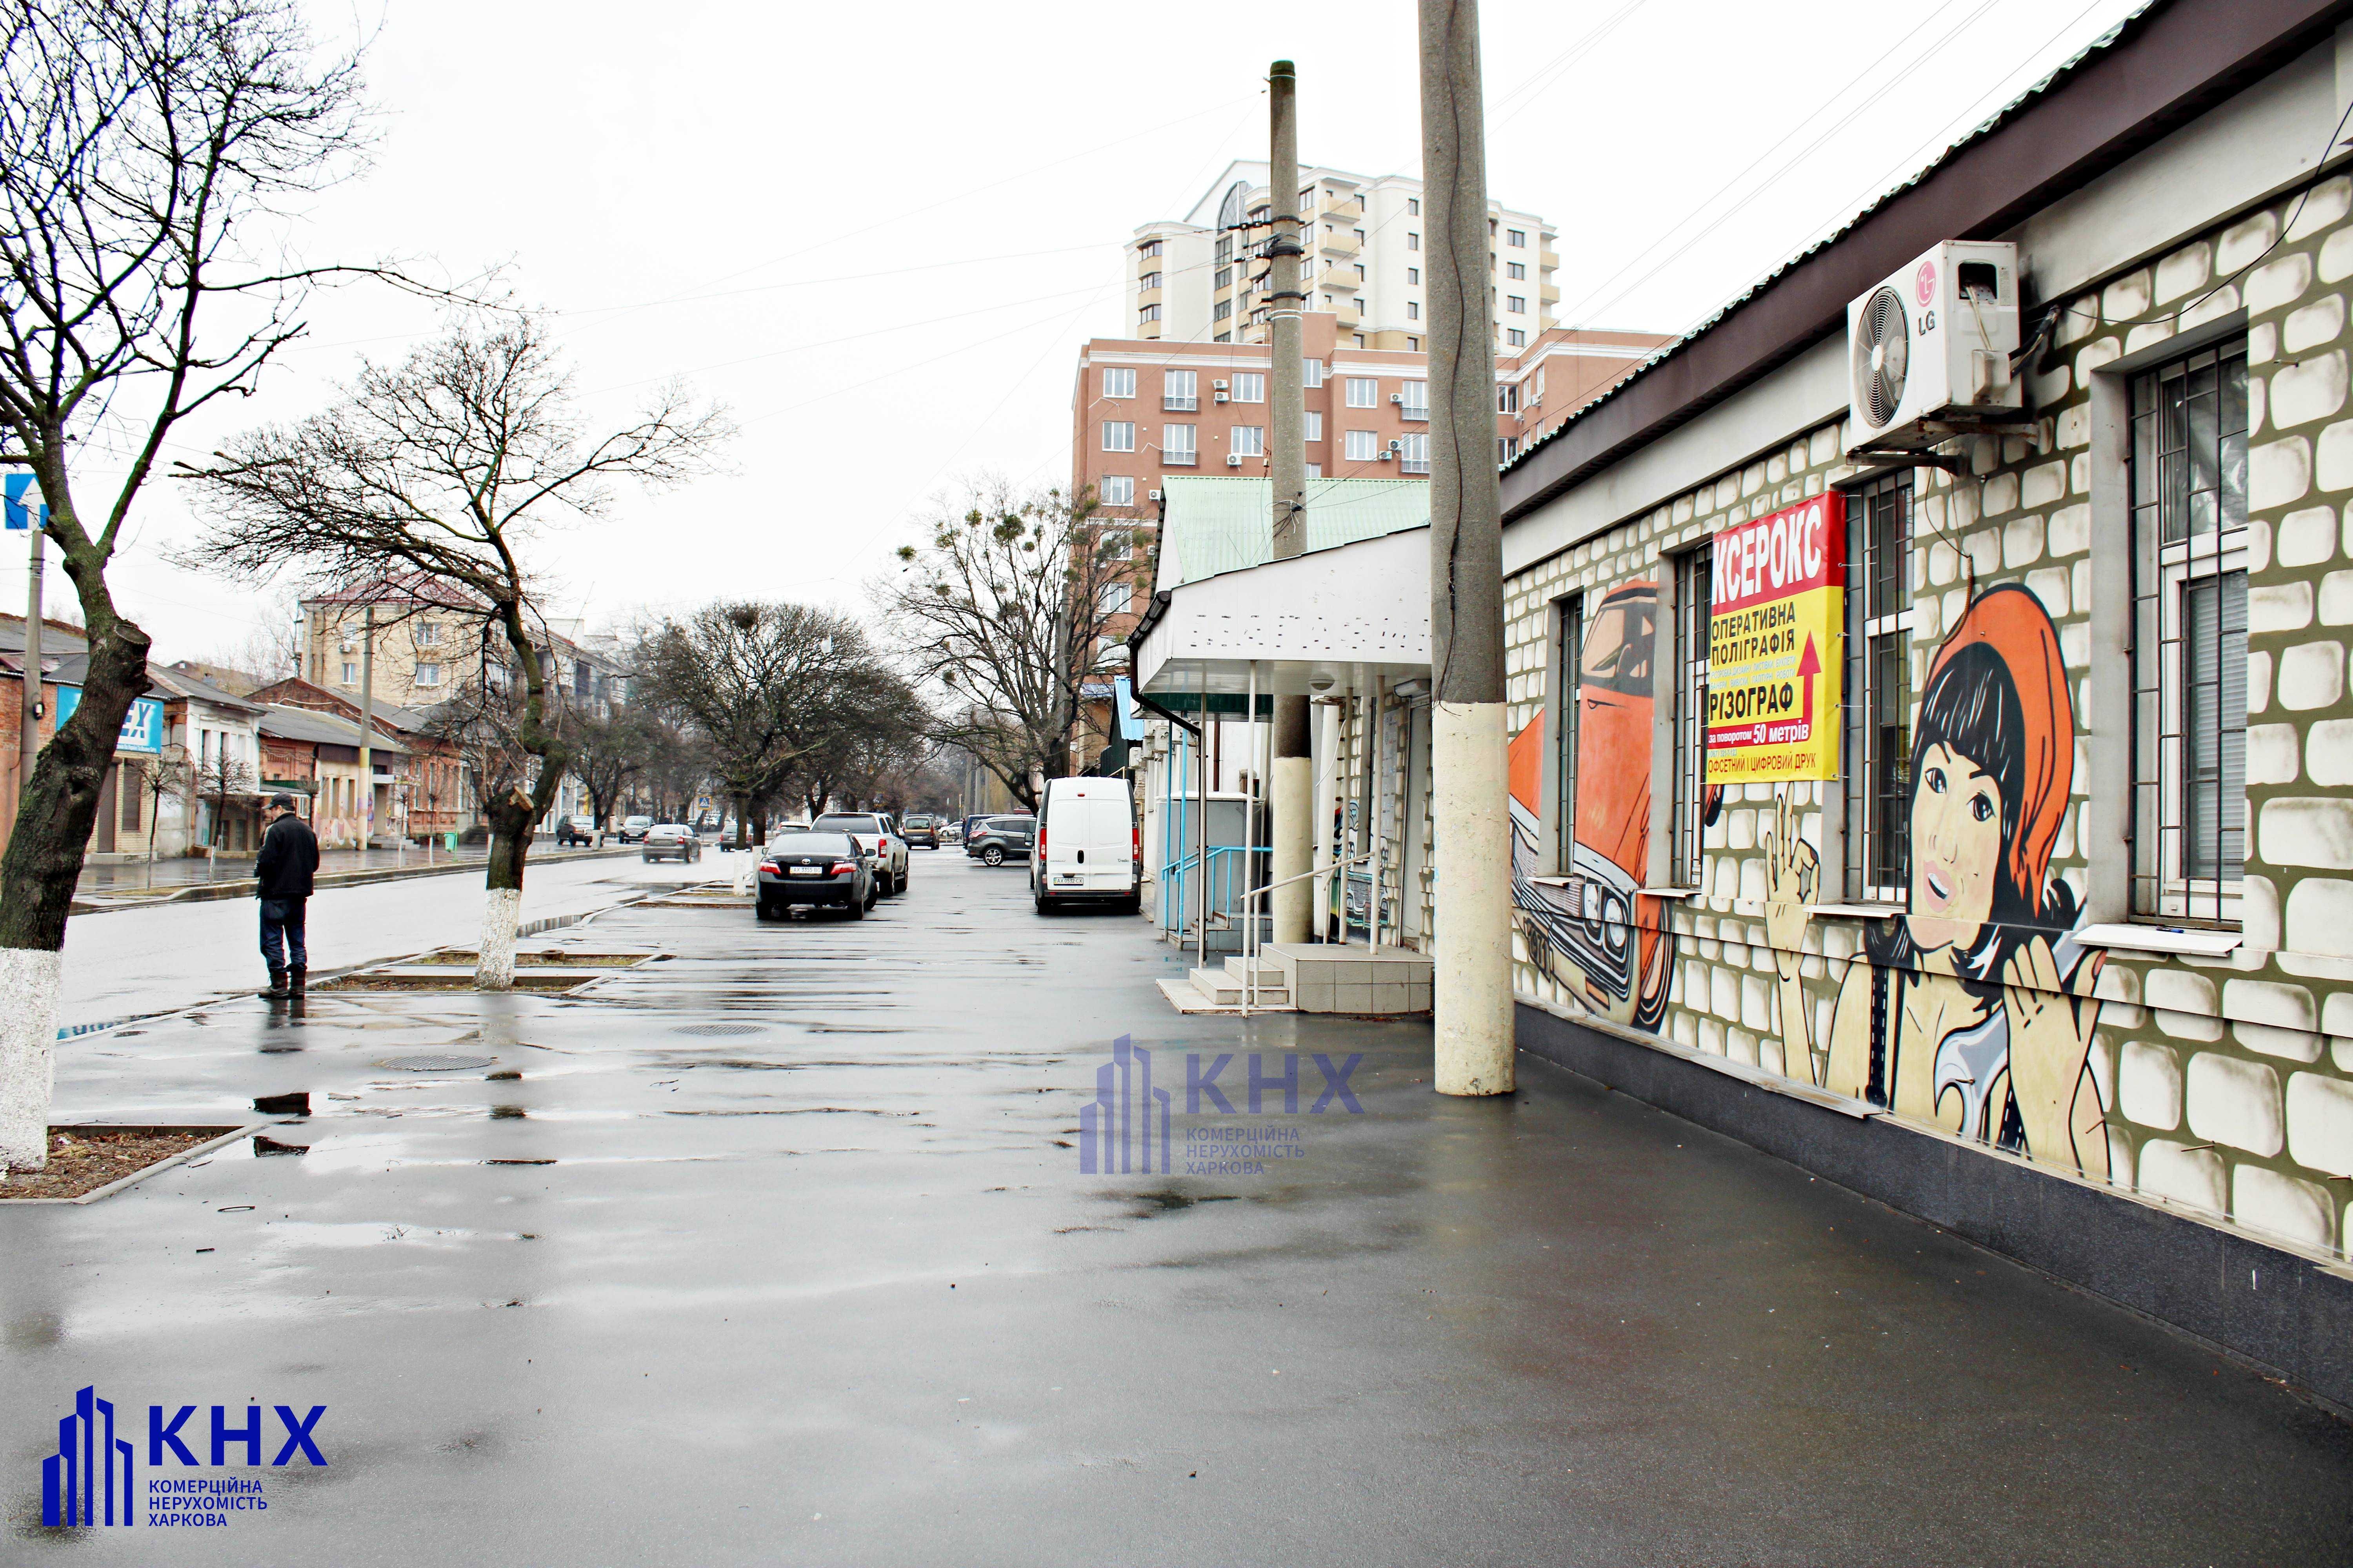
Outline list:
[[[1913,470],[1847,494],[1845,898],[1911,900]]]

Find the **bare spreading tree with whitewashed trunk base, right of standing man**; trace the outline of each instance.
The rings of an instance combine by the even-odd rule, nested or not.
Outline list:
[[[659,489],[708,473],[727,433],[715,409],[668,386],[633,423],[591,440],[546,327],[529,313],[480,313],[402,364],[362,362],[325,414],[254,430],[186,470],[214,510],[198,564],[292,569],[322,590],[384,585],[386,597],[426,578],[478,597],[504,635],[520,682],[513,738],[532,764],[482,799],[492,827],[482,990],[515,983],[522,863],[572,764],[555,719],[553,639],[525,557],[544,527],[605,515],[612,480]]]

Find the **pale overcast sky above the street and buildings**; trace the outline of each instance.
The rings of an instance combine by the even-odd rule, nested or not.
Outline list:
[[[1560,228],[1565,322],[1682,331],[2137,2],[1485,0],[1489,183]],[[541,543],[551,611],[591,623],[720,592],[859,607],[932,496],[1061,482],[1073,350],[1122,329],[1120,244],[1264,158],[1268,59],[1299,61],[1306,160],[1419,165],[1407,0],[374,5],[313,7],[322,35],[374,31],[381,139],[296,249],[504,263],[605,418],[682,374],[741,423],[732,475]],[[433,329],[367,289],[311,320],[184,456]],[[158,484],[115,574],[167,661],[261,614],[256,585],[160,559],[191,529]]]

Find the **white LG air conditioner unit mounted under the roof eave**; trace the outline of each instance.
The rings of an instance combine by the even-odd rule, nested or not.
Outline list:
[[[1913,451],[2024,411],[2019,247],[1946,240],[1847,306],[1849,451]]]

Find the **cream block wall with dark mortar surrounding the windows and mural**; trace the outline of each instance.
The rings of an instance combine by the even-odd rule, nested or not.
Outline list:
[[[2049,976],[2019,983],[2028,976],[2005,969],[1981,978],[1972,1006],[1977,1018],[2005,1020],[2012,1056],[1993,1067],[1979,1060],[1972,1072],[1977,1084],[1988,1072],[2005,1072],[2017,1105],[2047,1105],[2040,1081],[2047,1072],[2038,1065],[2045,1058],[2028,1044],[2059,1039],[2057,1009],[2078,1039],[2087,1039],[2080,1046],[2087,1095],[2068,1105],[2066,1135],[2052,1133],[2045,1112],[2042,1135],[2031,1138],[2024,1154],[2339,1253],[2353,1197],[2348,209],[2353,183],[2332,179],[2313,188],[2301,209],[2294,200],[2280,202],[2071,299],[2054,348],[2038,357],[2049,369],[2031,381],[2035,430],[1946,447],[1967,456],[1969,473],[1958,480],[1915,470],[1911,550],[1915,722],[1941,639],[1977,602],[1972,585],[1979,599],[2009,585],[2028,590],[2057,632],[2075,712],[2075,766],[2047,875],[2080,898],[2089,865],[2085,802],[2094,788],[2125,788],[2122,778],[2094,776],[2085,748],[2089,614],[2094,595],[2129,595],[2125,581],[2094,581],[2092,574],[2089,376],[2179,331],[2247,313],[2245,940],[2226,959],[2111,950],[2097,978],[2085,966],[2061,980],[2085,990],[2082,999],[2064,994]],[[1777,451],[1727,454],[1739,465],[1711,484],[1515,574],[1506,583],[1513,733],[1527,743],[1541,731],[1548,672],[1558,668],[1551,646],[1558,599],[1584,590],[1591,616],[1614,588],[1668,581],[1664,555],[1854,477],[1840,456],[1842,435],[1824,425]],[[1661,621],[1657,658],[1666,656]],[[1586,780],[1598,766],[1609,762],[1581,762]],[[1828,1081],[1826,1074],[1838,1072],[1838,1041],[1854,1032],[1840,1034],[1840,1009],[1849,1009],[1852,1023],[1852,1009],[1864,1006],[1854,997],[1880,985],[1866,933],[1885,926],[1835,914],[1805,919],[1802,905],[1781,896],[1788,884],[1777,879],[1767,842],[1786,813],[1819,853],[1821,813],[1833,799],[1835,785],[1727,788],[1704,837],[1701,891],[1680,903],[1642,900],[1628,922],[1602,922],[1598,938],[1574,929],[1581,910],[1553,922],[1529,917],[1532,898],[1560,900],[1565,893],[1534,877],[1534,846],[1548,842],[1541,835],[1553,832],[1555,806],[1520,799],[1518,987],[1558,1006],[1661,1030],[1685,1046]],[[1654,809],[1652,825],[1664,830],[1664,806]],[[1819,898],[1835,898],[1838,867],[1824,865],[1821,877]],[[1633,954],[1624,994],[1607,978],[1609,931]],[[1920,976],[1927,961],[1887,959],[1885,969]],[[1864,973],[1849,985],[1854,971]],[[1892,994],[1901,999],[1906,985],[1913,980],[1899,976]],[[1937,990],[1915,985],[1922,997]],[[1944,987],[1939,994],[1951,1001],[1962,992]],[[1802,1018],[1788,1018],[1791,1009]],[[1868,1013],[1864,1018],[1868,1025]],[[1939,1074],[1948,1056],[1951,1063],[1967,1056],[1953,1044],[1958,1034],[1915,1027],[1918,1013],[1901,1018],[1897,1039],[1939,1041]],[[1812,1048],[1800,1051],[1800,1041]],[[1791,1060],[1795,1056],[1802,1060]],[[1915,1103],[1894,1114],[1955,1121],[1946,1098],[1934,1110]],[[1984,1135],[2002,1138],[2000,1128]]]

